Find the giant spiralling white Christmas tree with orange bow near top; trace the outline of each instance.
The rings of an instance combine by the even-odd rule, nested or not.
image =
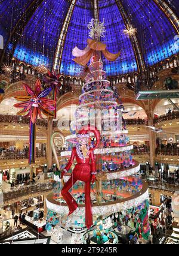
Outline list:
[[[106,80],[101,55],[110,61],[115,61],[119,53],[113,54],[106,50],[100,36],[104,36],[104,23],[92,20],[90,23],[88,46],[84,50],[73,49],[74,61],[84,67],[85,85],[79,97],[79,107],[76,109],[75,122],[71,124],[72,135],[66,137],[67,151],[61,152],[61,167],[70,156],[70,149],[76,142],[75,131],[84,125],[94,125],[101,132],[100,146],[94,150],[97,165],[97,181],[92,185],[92,213],[95,230],[103,230],[107,217],[112,216],[111,230],[119,231],[122,224],[131,228],[130,238],[143,236],[147,239],[149,229],[149,203],[147,184],[138,176],[140,164],[132,159],[132,145],[126,136],[127,130],[122,118],[122,105],[118,95]],[[87,66],[90,61],[89,67]],[[123,124],[122,124],[123,123]],[[91,134],[91,147],[95,143]],[[72,169],[73,170],[73,165]],[[64,181],[69,174],[64,176]],[[73,231],[83,231],[84,224],[84,195],[83,183],[78,182],[71,193],[80,207],[67,217],[69,212],[63,198],[54,200],[53,195],[47,197],[49,214],[57,213],[61,217],[61,225],[66,225]],[[99,220],[102,221],[99,228]],[[50,221],[50,218],[48,219]]]

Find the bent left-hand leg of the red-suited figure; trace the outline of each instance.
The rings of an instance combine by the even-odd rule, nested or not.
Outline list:
[[[70,188],[72,188],[72,186],[76,182],[77,182],[77,179],[74,179],[74,177],[71,176],[70,179],[67,181],[67,183],[64,185],[63,189],[61,189],[61,195],[63,196],[64,200],[69,206],[69,215],[72,214],[78,207],[78,204],[76,203],[75,199],[72,197],[72,195],[69,192]]]

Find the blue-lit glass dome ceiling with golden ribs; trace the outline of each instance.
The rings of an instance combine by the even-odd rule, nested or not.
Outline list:
[[[179,1],[98,0],[98,19],[105,20],[107,49],[121,56],[104,59],[108,75],[149,67],[178,52]],[[165,4],[165,5],[163,5]],[[0,1],[0,34],[5,49],[32,65],[56,64],[60,73],[78,75],[81,67],[72,61],[72,49],[84,49],[88,23],[94,18],[90,0]],[[137,28],[135,38],[123,33],[127,24]],[[142,67],[143,66],[143,67]]]

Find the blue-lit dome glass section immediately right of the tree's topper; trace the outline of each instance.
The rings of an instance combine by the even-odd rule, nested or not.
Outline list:
[[[131,41],[123,34],[125,23],[115,0],[99,1],[99,19],[105,20],[106,37],[102,39],[107,44],[109,52],[121,51],[121,56],[115,62],[103,58],[104,70],[107,74],[128,73],[137,70],[134,50]]]

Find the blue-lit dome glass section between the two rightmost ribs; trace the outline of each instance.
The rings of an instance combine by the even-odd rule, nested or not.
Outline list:
[[[153,65],[168,58],[177,50],[173,26],[153,0],[122,0],[131,23],[137,28],[137,37],[146,65]],[[177,2],[177,1],[176,1]]]

